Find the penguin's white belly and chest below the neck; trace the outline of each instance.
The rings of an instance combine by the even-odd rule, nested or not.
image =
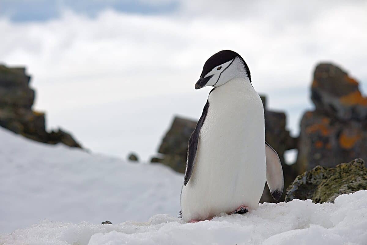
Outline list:
[[[193,173],[182,188],[184,221],[230,213],[241,205],[255,209],[261,198],[266,178],[264,110],[252,87],[232,89],[244,81],[231,82],[210,94]]]

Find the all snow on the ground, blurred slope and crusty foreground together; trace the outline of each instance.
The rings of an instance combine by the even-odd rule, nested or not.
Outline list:
[[[1,245],[367,244],[367,190],[335,203],[263,203],[244,215],[183,223],[176,216],[183,176],[164,166],[34,143],[3,129],[0,138]]]

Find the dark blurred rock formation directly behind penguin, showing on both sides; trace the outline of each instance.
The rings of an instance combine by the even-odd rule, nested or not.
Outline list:
[[[266,109],[266,99],[261,96],[261,100],[265,108],[265,135],[266,141],[278,152],[279,158],[283,163],[284,186],[288,186],[297,172],[294,166],[284,164],[284,151],[293,149],[297,146],[297,139],[289,135],[286,130],[286,115],[283,112],[268,111]],[[175,117],[171,128],[164,136],[158,152],[162,154],[160,158],[152,158],[152,162],[160,162],[164,165],[172,167],[179,173],[185,173],[188,141],[191,133],[194,131],[196,121]],[[283,197],[280,201],[284,200]],[[265,188],[262,202],[275,201],[269,192],[268,187]]]

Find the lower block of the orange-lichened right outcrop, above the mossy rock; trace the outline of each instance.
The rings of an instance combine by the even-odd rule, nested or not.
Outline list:
[[[301,120],[298,173],[317,165],[334,167],[356,157],[367,159],[366,122],[342,122],[319,112],[306,112]]]

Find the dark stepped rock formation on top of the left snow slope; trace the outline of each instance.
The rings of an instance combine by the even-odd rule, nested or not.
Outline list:
[[[79,147],[73,137],[61,130],[48,133],[45,114],[32,110],[35,93],[29,87],[25,68],[0,65],[0,126],[32,140],[48,144],[63,143]]]

